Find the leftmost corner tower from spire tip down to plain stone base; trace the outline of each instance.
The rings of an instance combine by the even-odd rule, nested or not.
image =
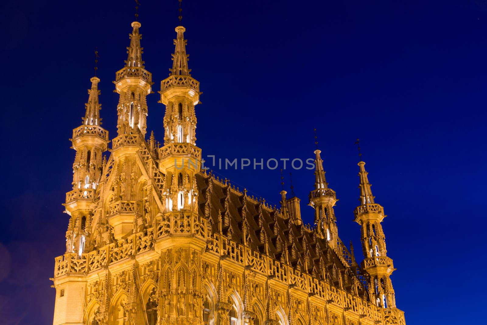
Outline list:
[[[73,190],[66,193],[65,211],[70,216],[66,231],[66,253],[56,258],[65,261],[56,264],[55,274],[68,268],[68,261],[82,261],[92,243],[89,242],[94,209],[97,206],[97,191],[103,168],[102,153],[107,150],[108,131],[103,129],[99,115],[98,82],[94,76],[90,79],[91,89],[88,90],[88,103],[83,124],[73,129],[73,149],[76,151],[73,164]],[[82,262],[79,262],[82,264]],[[87,284],[86,274],[70,274],[56,277],[56,302],[53,324],[84,324],[85,314],[82,308],[84,292]]]

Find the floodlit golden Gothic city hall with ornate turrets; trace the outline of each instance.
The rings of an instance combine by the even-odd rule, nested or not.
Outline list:
[[[175,29],[172,68],[158,92],[166,107],[164,141],[148,134],[152,75],[142,60],[141,23],[131,28],[114,81],[117,134],[110,138],[101,126],[96,76],[83,123],[73,130],[53,324],[405,325],[391,282],[384,209],[365,162],[358,163],[358,263],[338,237],[338,199],[318,149],[306,201],[312,227],[301,220],[300,198],[281,191],[280,207],[271,207],[201,168],[200,84],[188,68],[183,26]]]

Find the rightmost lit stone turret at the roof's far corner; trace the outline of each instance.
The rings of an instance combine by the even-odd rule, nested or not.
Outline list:
[[[360,177],[360,205],[355,209],[355,221],[361,227],[364,260],[362,268],[371,276],[370,294],[382,308],[395,308],[394,289],[390,279],[395,270],[393,260],[387,257],[386,239],[381,222],[386,217],[384,208],[374,202],[371,184],[365,171],[365,162],[358,163]]]

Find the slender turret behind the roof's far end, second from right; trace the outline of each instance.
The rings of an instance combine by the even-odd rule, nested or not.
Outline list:
[[[318,144],[317,144],[318,147]],[[328,183],[323,170],[321,151],[315,150],[315,189],[309,193],[309,203],[315,209],[315,225],[318,236],[326,238],[332,247],[337,246],[338,229],[337,219],[333,207],[337,203],[337,194],[328,188]]]

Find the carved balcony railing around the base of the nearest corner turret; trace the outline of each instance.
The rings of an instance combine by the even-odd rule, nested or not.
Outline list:
[[[206,218],[189,211],[173,211],[156,218],[155,239],[165,236],[191,235],[206,240]]]

